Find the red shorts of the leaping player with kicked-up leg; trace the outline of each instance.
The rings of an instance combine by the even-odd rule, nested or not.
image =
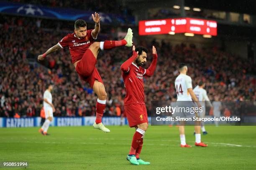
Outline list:
[[[96,58],[94,57],[92,51],[87,49],[84,52],[82,60],[77,63],[76,70],[79,77],[88,82],[90,87],[93,87],[95,80],[98,80],[103,84],[103,81],[100,77],[100,73],[98,72],[96,65]]]

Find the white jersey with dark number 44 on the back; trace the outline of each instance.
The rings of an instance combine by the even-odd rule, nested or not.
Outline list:
[[[180,74],[175,79],[177,101],[192,101],[187,89],[192,88],[192,80],[188,75]]]

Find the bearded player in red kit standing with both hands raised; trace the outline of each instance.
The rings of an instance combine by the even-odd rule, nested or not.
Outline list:
[[[124,112],[131,128],[135,127],[131,150],[127,160],[132,165],[148,165],[139,158],[143,146],[143,138],[148,128],[148,115],[144,102],[143,76],[151,76],[156,69],[156,48],[152,47],[153,61],[148,69],[142,66],[146,63],[148,50],[145,47],[133,46],[132,56],[121,65],[123,81],[126,90]]]

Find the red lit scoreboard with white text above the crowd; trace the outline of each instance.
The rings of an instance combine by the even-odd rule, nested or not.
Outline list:
[[[217,22],[195,18],[173,18],[139,21],[139,35],[194,33],[217,35]]]

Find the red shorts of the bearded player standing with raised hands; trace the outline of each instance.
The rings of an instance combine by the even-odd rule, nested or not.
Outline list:
[[[124,112],[126,114],[129,126],[136,127],[141,123],[148,123],[148,114],[146,105],[131,104],[124,105]]]

